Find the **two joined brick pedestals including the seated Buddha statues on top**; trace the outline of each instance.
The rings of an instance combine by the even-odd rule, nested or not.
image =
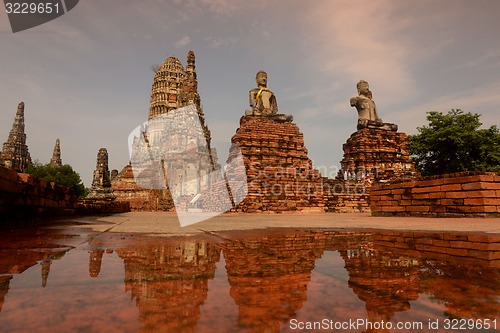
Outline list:
[[[359,96],[351,99],[359,114],[358,130],[343,146],[336,179],[322,177],[313,168],[293,117],[277,113],[267,74],[257,73],[256,82],[259,87],[250,91],[252,110],[245,112],[231,140],[229,161],[238,147],[248,180],[248,195],[236,211],[369,212],[373,181],[416,176],[406,134],[378,117],[366,81],[358,83]]]

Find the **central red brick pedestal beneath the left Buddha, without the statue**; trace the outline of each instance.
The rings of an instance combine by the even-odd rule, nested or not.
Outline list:
[[[296,124],[243,116],[231,143],[239,147],[247,173],[248,195],[236,211],[325,211],[322,177]],[[236,152],[230,151],[229,161]]]

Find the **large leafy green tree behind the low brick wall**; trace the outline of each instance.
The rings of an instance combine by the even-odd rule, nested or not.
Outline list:
[[[452,109],[428,112],[427,126],[410,135],[410,154],[422,175],[460,171],[500,171],[500,132],[479,129],[479,114]]]

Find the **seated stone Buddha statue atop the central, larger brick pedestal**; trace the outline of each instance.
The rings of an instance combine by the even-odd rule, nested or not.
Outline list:
[[[292,121],[293,116],[278,114],[278,103],[274,93],[267,89],[267,73],[259,71],[255,76],[258,88],[250,90],[250,106],[252,110],[246,110],[246,116],[264,116],[277,121]]]

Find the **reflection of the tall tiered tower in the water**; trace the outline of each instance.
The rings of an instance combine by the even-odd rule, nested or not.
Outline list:
[[[139,308],[141,331],[194,332],[220,250],[198,238],[148,239],[152,243],[116,250],[125,265],[125,289]]]

